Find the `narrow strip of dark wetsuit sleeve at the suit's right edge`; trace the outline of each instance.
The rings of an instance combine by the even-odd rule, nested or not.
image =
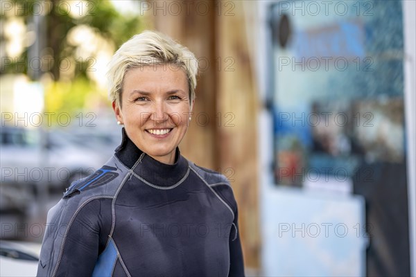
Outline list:
[[[229,274],[228,276],[245,276],[243,251],[241,250],[238,211],[235,210],[234,225],[229,235]]]

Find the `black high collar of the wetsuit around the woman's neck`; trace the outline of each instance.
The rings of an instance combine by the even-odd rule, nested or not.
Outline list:
[[[140,159],[143,151],[137,148],[135,143],[129,139],[124,128],[122,132],[123,140],[121,145],[116,148],[115,155],[125,166],[132,168]],[[176,148],[175,163],[172,165],[161,163],[148,154],[144,154],[133,171],[155,186],[173,186],[184,178],[188,170],[187,159],[182,157],[179,148]]]

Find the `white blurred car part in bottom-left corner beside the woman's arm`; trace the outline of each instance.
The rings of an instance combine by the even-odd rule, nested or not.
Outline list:
[[[0,240],[0,276],[36,276],[41,244]]]

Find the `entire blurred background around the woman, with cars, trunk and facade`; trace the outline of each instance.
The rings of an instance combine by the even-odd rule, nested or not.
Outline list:
[[[416,1],[0,1],[0,276],[121,142],[105,73],[159,30],[198,57],[184,157],[225,175],[247,276],[415,276]]]

